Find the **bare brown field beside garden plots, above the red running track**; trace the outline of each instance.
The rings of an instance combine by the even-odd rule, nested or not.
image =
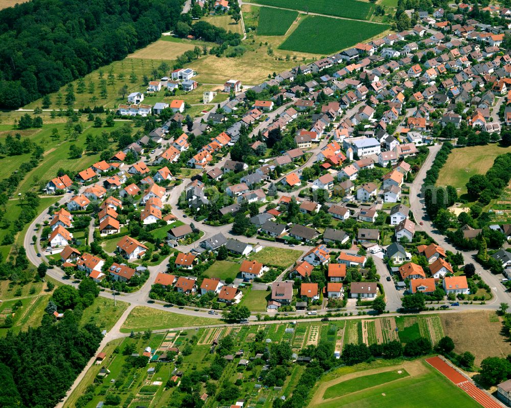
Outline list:
[[[500,319],[495,321],[493,316],[493,312],[486,310],[467,311],[441,315],[440,321],[445,334],[456,345],[454,351],[470,351],[476,357],[475,364],[479,365],[486,357],[505,357],[511,353],[511,345],[500,334]],[[470,328],[467,327],[468,322]]]

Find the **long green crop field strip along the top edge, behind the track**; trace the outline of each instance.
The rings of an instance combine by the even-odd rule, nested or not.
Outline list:
[[[355,18],[358,20],[366,20],[374,12],[374,5],[368,2],[359,2],[358,0],[337,0],[336,2],[331,2],[329,0],[252,0],[252,3],[338,17]]]

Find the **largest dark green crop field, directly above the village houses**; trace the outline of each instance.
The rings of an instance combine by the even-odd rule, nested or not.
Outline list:
[[[374,37],[389,26],[364,21],[309,16],[279,46],[282,50],[331,54]],[[335,35],[332,35],[335,33]]]

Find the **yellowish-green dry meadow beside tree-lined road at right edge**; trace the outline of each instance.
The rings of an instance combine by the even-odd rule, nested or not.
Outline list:
[[[511,149],[500,147],[496,143],[453,149],[440,170],[436,185],[452,185],[459,188],[458,195],[465,194],[465,184],[473,175],[486,173],[498,155],[509,152]]]

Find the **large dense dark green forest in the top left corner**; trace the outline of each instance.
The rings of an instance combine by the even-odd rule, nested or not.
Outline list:
[[[18,108],[172,30],[179,0],[33,0],[0,11],[0,107]]]

